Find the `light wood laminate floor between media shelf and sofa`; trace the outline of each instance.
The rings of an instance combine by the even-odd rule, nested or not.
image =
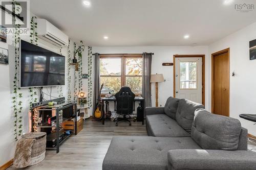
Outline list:
[[[141,122],[132,122],[130,127],[127,122],[119,122],[118,126],[110,120],[101,122],[87,119],[83,130],[78,135],[67,139],[60,147],[59,153],[46,151],[46,158],[41,163],[22,168],[24,170],[97,170],[102,169],[102,162],[109,148],[113,136],[147,136],[145,125]],[[8,170],[17,168],[9,167]]]

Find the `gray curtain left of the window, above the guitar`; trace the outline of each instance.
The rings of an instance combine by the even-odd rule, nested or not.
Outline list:
[[[100,87],[100,81],[99,81],[99,54],[94,54],[94,91],[93,91],[93,113],[95,111],[97,100],[100,99],[99,95],[99,87]]]

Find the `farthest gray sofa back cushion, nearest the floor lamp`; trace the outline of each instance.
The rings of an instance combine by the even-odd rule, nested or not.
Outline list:
[[[179,100],[177,98],[169,97],[164,106],[164,113],[170,118],[176,118],[176,112],[179,104]]]

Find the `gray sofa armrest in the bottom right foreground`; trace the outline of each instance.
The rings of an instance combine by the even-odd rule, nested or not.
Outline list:
[[[253,170],[256,153],[252,151],[224,150],[170,150],[168,170]]]

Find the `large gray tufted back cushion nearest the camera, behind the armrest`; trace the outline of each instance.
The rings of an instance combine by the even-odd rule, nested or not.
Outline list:
[[[204,109],[195,112],[191,137],[205,150],[237,150],[241,123],[236,118],[212,114]]]

